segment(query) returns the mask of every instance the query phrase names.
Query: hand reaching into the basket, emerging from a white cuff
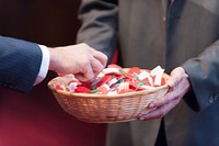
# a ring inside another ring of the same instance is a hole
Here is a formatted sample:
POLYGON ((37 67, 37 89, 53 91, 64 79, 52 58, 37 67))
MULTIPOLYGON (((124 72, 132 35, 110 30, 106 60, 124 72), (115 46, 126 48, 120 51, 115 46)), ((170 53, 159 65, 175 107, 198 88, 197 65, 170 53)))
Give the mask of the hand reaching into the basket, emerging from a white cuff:
POLYGON ((107 57, 87 44, 49 48, 49 70, 58 74, 73 74, 80 81, 97 76, 106 66, 107 57))

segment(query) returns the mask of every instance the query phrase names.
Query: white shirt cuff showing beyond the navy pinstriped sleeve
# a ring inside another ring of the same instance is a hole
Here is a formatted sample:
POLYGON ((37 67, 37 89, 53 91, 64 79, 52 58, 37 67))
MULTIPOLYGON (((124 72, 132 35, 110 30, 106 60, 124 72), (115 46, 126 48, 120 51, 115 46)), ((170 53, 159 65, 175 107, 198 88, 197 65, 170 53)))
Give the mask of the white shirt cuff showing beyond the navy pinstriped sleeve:
POLYGON ((38 76, 37 76, 35 82, 34 82, 34 86, 42 82, 46 78, 46 75, 48 72, 49 60, 50 60, 50 55, 49 55, 48 48, 44 45, 38 45, 38 46, 42 50, 43 57, 42 57, 41 69, 39 69, 39 72, 38 72, 38 76))

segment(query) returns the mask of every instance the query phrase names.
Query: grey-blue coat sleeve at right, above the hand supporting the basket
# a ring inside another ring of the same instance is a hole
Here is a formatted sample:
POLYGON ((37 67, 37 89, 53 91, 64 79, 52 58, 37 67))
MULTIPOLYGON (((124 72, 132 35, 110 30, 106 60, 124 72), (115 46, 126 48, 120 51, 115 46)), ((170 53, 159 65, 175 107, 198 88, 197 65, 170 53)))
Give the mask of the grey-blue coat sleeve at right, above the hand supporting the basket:
POLYGON ((219 100, 219 41, 182 67, 188 74, 193 87, 185 99, 193 109, 204 110, 219 100))

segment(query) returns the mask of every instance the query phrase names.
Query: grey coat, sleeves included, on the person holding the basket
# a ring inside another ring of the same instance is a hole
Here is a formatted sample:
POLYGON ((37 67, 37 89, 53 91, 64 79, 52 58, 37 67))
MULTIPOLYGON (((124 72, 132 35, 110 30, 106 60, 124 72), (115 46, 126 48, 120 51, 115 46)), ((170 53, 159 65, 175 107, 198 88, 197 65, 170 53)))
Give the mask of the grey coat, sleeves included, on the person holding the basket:
MULTIPOLYGON (((82 0, 78 42, 119 65, 168 74, 182 66, 188 92, 164 119, 169 146, 219 146, 219 0, 82 0)), ((107 146, 153 146, 160 120, 110 124, 107 146)))

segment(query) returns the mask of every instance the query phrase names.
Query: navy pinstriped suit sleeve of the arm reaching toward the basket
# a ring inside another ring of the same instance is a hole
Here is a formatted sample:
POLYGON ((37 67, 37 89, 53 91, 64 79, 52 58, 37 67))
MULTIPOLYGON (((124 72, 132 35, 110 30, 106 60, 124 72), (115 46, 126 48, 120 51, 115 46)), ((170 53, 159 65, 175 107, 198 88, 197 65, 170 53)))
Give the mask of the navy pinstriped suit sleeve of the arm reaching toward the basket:
POLYGON ((42 50, 37 44, 0 36, 0 85, 28 92, 38 75, 42 50))

